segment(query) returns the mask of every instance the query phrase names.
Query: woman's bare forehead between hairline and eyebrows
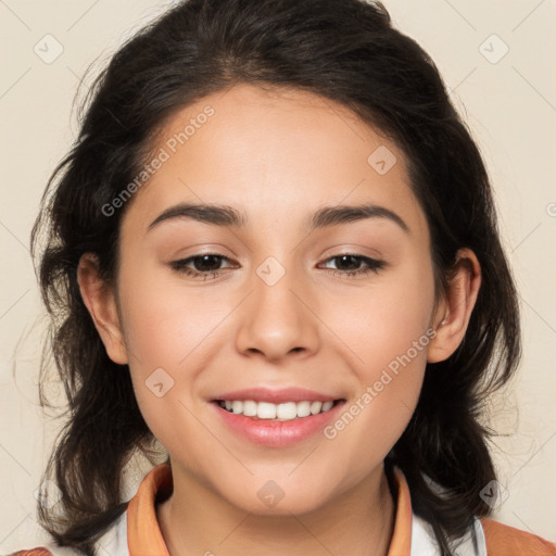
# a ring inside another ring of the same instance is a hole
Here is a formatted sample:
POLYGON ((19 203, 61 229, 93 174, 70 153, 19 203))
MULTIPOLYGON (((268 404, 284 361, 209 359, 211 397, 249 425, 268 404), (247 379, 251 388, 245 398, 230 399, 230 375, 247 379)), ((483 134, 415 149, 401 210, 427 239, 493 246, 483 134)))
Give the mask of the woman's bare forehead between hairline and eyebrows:
POLYGON ((178 202, 240 207, 248 224, 368 202, 403 213, 410 227, 425 222, 396 144, 306 91, 240 85, 207 96, 166 123, 151 157, 164 161, 130 211, 142 228, 178 202))

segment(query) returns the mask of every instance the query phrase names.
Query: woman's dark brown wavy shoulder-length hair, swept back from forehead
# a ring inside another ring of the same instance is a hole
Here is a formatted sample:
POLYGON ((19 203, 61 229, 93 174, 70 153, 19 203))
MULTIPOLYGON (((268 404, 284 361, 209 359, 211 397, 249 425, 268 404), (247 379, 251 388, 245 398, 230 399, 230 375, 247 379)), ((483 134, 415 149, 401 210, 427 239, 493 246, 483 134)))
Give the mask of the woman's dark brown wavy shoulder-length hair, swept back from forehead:
POLYGON ((61 545, 92 555, 126 509, 123 467, 153 441, 129 369, 108 357, 77 285, 86 252, 97 254, 108 282, 116 277, 127 206, 112 216, 102 207, 140 172, 173 114, 240 83, 323 96, 390 137, 408 161, 438 276, 447 275, 460 248, 480 262, 482 286, 465 340, 448 359, 427 366, 415 414, 387 458, 387 468, 404 471, 414 510, 432 525, 445 556, 473 516, 490 511, 479 493, 495 478, 492 431, 480 417, 519 358, 516 291, 485 167, 434 63, 393 28, 381 4, 363 0, 184 1, 128 40, 96 79, 31 236, 34 253, 45 238, 39 280, 68 400, 68 421, 45 472, 61 489, 62 514, 39 504, 41 522, 61 545))

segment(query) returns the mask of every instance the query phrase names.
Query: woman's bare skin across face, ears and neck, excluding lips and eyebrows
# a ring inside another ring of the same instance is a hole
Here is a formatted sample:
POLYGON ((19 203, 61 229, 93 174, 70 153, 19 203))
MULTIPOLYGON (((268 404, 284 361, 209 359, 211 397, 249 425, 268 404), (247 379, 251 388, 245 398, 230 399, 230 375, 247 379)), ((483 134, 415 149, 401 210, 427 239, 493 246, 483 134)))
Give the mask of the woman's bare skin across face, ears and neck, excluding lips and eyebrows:
POLYGON ((174 492, 157 506, 168 551, 386 555, 394 503, 383 459, 415 409, 427 361, 448 357, 464 338, 479 264, 462 250, 446 292, 434 291, 403 152, 317 96, 236 86, 177 113, 155 151, 207 104, 214 116, 129 201, 115 286, 101 282, 90 254, 78 271, 106 352, 129 365, 141 413, 172 458, 174 492), (381 146, 397 159, 384 175, 367 162, 381 146), (180 202, 230 205, 248 224, 174 218, 148 231, 180 202), (408 231, 384 217, 304 227, 321 206, 363 203, 394 212, 408 231), (345 252, 386 264, 346 276, 365 263, 332 258, 345 252), (214 279, 170 266, 205 253, 228 257, 214 279), (286 270, 274 286, 256 273, 269 256, 286 270), (218 392, 255 386, 307 388, 349 406, 428 329, 435 337, 332 440, 254 445, 210 406, 218 392), (144 382, 161 367, 175 383, 157 397, 144 382), (274 508, 257 496, 269 480, 285 493, 274 508))

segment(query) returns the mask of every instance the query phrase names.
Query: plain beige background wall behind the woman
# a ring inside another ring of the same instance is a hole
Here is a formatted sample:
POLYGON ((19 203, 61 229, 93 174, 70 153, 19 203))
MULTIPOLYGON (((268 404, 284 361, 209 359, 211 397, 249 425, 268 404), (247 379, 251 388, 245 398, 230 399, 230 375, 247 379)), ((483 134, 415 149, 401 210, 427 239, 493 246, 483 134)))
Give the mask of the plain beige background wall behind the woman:
MULTIPOLYGON (((170 3, 0 0, 0 554, 41 540, 34 492, 60 427, 37 405, 45 318, 28 237, 39 198, 75 137, 72 101, 87 66, 170 3), (63 48, 51 63, 34 51, 49 40, 55 53, 47 34, 63 48)), ((498 430, 511 433, 496 441, 508 496, 495 517, 556 541, 556 2, 384 4, 437 62, 486 159, 520 289, 525 356, 492 407, 498 430)))

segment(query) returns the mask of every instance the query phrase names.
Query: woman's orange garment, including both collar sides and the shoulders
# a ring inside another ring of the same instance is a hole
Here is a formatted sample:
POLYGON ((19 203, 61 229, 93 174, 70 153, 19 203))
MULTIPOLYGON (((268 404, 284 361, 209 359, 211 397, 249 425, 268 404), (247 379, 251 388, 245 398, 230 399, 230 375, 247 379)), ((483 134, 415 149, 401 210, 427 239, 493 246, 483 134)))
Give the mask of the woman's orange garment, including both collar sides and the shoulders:
MULTIPOLYGON (((394 531, 388 556, 413 556, 414 515, 409 488, 404 473, 394 468, 397 488, 394 531)), ((142 480, 127 507, 127 548, 129 556, 169 556, 156 520, 155 500, 172 491, 172 469, 161 464, 142 480)), ((556 544, 540 536, 502 525, 490 518, 480 520, 488 556, 556 556, 556 544)), ((10 556, 55 556, 55 547, 20 551, 10 556)), ((112 554, 112 556, 121 556, 112 554)), ((127 555, 126 555, 127 556, 127 555)))

